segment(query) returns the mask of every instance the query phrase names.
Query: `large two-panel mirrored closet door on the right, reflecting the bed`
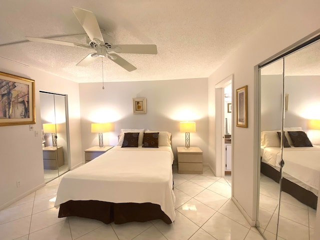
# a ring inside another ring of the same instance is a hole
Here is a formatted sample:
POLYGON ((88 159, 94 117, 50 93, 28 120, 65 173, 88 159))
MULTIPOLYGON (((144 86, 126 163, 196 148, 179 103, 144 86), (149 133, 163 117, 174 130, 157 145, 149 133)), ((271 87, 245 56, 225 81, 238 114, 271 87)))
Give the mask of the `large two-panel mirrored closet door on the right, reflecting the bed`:
POLYGON ((313 41, 259 69, 261 157, 256 225, 266 239, 316 239, 319 53, 320 42, 313 41))

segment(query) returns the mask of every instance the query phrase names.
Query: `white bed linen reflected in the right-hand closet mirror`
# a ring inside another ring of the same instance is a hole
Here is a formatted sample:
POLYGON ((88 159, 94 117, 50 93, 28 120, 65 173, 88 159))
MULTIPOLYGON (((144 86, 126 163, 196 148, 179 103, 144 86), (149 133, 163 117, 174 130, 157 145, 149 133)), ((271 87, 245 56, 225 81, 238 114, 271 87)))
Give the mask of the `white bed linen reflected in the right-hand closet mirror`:
MULTIPOLYGON (((320 146, 283 148, 283 176, 318 195, 320 177, 320 146)), ((279 170, 279 147, 265 147, 262 161, 279 170)))

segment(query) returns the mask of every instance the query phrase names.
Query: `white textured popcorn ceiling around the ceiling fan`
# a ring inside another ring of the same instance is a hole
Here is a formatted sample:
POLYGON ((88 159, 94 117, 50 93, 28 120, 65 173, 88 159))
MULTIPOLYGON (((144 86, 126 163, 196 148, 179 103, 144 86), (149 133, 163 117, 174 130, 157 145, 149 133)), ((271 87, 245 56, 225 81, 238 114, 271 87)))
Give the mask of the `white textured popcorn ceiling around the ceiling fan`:
POLYGON ((278 0, 7 0, 0 5, 0 57, 76 82, 99 82, 101 58, 76 66, 89 49, 25 41, 25 36, 86 43, 71 10, 92 11, 114 44, 156 44, 158 54, 119 55, 137 67, 127 72, 103 58, 104 81, 208 77, 278 0), (71 36, 72 35, 72 36, 71 36), (22 41, 22 42, 21 42, 22 41), (24 41, 24 42, 23 42, 24 41), (19 42, 10 44, 12 42, 19 42))

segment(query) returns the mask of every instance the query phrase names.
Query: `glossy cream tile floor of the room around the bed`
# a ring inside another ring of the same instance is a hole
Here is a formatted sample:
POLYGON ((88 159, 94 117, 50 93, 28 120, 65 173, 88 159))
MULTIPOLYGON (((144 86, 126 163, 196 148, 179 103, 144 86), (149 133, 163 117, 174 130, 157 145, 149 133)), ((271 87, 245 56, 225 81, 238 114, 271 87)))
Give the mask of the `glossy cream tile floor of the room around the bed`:
POLYGON ((152 220, 115 225, 80 217, 57 218, 53 204, 58 177, 0 211, 0 239, 263 239, 230 199, 230 176, 215 177, 208 167, 203 174, 178 174, 175 168, 173 172, 176 218, 172 224, 152 220))

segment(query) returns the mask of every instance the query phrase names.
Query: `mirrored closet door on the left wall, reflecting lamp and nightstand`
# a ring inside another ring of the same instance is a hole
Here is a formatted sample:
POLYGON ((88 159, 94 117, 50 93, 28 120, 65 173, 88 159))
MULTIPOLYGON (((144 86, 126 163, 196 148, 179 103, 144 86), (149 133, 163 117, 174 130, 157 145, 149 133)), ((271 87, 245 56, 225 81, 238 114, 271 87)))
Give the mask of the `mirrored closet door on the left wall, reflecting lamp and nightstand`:
POLYGON ((67 96, 40 91, 44 179, 69 170, 67 96))

